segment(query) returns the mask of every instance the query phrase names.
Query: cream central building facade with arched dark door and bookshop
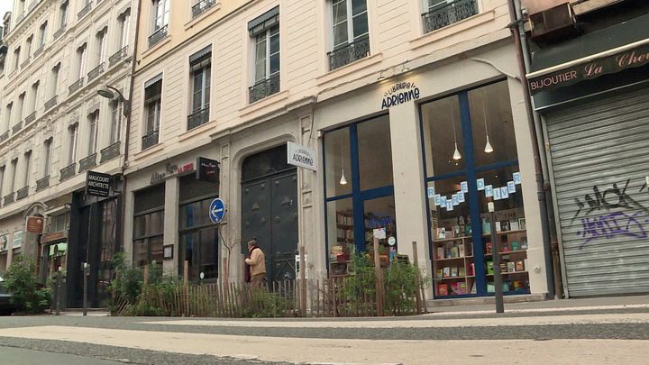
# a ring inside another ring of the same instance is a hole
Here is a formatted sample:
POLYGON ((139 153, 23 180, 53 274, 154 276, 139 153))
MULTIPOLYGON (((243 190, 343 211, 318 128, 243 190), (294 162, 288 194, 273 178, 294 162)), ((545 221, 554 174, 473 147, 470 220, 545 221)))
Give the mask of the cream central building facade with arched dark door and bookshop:
POLYGON ((143 0, 124 192, 124 251, 215 280, 245 242, 269 280, 417 257, 436 299, 548 292, 534 151, 505 0, 143 0), (317 169, 289 165, 288 142, 317 169), (218 182, 196 177, 219 162, 218 182), (220 226, 208 205, 226 202, 220 226), (496 210, 492 251, 488 203, 496 210), (232 249, 230 249, 232 248, 232 249), (339 257, 340 256, 340 257, 339 257))

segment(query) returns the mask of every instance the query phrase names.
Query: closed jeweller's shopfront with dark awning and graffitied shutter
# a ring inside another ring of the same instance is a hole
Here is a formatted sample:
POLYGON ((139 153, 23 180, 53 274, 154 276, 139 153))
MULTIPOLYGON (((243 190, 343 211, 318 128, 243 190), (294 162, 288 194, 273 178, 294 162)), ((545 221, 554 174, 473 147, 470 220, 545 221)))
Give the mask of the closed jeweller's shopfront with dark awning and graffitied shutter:
POLYGON ((529 33, 527 78, 555 192, 563 290, 570 297, 647 293, 649 7, 555 3, 530 7, 533 23, 542 16, 562 22, 554 32, 529 33))

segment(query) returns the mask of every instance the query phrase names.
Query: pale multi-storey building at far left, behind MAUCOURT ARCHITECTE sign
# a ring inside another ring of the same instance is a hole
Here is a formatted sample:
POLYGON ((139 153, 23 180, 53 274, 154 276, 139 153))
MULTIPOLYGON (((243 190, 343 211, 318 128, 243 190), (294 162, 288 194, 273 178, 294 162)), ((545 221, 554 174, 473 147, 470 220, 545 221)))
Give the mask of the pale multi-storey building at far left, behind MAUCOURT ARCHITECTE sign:
POLYGON ((0 269, 17 255, 36 260, 43 282, 61 270, 67 306, 81 306, 82 263, 92 306, 105 299, 119 250, 126 118, 134 26, 131 1, 18 0, 4 41, 0 111, 0 269), (86 172, 114 176, 106 198, 84 194, 86 172), (40 216, 42 234, 28 233, 40 216))

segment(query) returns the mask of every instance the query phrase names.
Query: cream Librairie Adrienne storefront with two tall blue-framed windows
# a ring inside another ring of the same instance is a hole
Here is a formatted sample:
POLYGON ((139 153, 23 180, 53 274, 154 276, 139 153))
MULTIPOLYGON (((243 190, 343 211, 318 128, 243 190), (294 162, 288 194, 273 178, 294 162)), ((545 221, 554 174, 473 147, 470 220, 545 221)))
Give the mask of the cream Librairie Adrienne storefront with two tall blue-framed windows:
MULTIPOLYGON (((508 46, 480 57, 516 69, 508 46)), ((520 81, 471 59, 408 73, 320 106, 327 269, 379 233, 379 255, 417 260, 435 299, 547 293, 534 155, 520 81), (462 69, 462 73, 455 72, 462 69), (448 77, 452 75, 452 78, 448 77), (341 121, 347 121, 341 123, 341 121), (336 125, 337 123, 337 125, 336 125), (500 252, 492 251, 488 203, 500 252)))

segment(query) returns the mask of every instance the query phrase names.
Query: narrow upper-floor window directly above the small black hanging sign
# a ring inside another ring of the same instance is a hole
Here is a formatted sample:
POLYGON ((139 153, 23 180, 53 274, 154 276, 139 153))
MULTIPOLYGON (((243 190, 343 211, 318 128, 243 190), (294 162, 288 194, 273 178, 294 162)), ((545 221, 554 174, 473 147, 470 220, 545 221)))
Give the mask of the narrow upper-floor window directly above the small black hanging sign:
POLYGON ((192 79, 191 113, 187 117, 187 130, 209 121, 210 84, 212 78, 212 46, 189 57, 192 79))

